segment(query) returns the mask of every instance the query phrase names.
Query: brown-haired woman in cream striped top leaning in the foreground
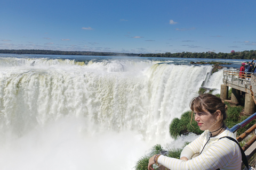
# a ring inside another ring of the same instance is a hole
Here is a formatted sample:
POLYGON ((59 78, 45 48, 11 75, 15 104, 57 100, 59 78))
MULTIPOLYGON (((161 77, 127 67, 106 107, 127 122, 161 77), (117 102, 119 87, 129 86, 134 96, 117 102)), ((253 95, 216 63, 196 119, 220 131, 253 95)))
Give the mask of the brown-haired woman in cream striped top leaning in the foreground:
POLYGON ((190 103, 195 121, 204 132, 181 152, 181 158, 175 159, 163 155, 154 155, 149 159, 148 170, 153 164, 175 169, 241 169, 241 150, 234 141, 234 134, 223 123, 227 118, 226 105, 211 94, 203 94, 190 103), (220 139, 221 137, 225 137, 220 139), (198 156, 192 158, 197 154, 198 156), (192 159, 191 159, 192 158, 192 159))

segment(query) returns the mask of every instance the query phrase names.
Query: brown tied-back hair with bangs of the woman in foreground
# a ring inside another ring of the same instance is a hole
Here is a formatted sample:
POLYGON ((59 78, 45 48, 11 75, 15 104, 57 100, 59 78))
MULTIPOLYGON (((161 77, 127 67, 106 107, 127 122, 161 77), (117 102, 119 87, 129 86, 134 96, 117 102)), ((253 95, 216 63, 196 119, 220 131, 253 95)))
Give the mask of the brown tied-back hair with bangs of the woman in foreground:
MULTIPOLYGON (((211 95, 211 94, 203 94, 193 98, 190 102, 190 109, 193 112, 202 113, 202 112, 210 112, 211 114, 215 114, 217 110, 221 112, 221 117, 215 124, 220 124, 225 121, 227 118, 226 109, 227 106, 224 104, 219 97, 211 95)), ((191 121, 192 121, 191 116, 191 121)))

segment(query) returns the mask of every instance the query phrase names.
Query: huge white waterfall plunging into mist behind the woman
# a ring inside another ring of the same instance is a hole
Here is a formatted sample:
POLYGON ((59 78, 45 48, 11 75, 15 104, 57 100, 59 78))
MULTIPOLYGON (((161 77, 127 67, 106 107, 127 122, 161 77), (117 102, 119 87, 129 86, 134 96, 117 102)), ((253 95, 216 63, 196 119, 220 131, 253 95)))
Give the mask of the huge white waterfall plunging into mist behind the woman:
POLYGON ((212 69, 25 57, 0 65, 1 169, 132 169, 149 147, 172 140, 170 122, 212 69))

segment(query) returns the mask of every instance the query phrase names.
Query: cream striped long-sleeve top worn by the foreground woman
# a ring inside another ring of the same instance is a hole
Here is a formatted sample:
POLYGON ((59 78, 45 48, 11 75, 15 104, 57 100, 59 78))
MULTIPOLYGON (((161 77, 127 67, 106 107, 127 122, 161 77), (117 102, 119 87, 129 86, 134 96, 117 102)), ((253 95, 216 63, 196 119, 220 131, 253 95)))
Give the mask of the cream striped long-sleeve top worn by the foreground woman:
POLYGON ((182 150, 180 157, 187 157, 189 159, 188 161, 161 155, 157 162, 171 170, 215 170, 218 168, 240 170, 242 155, 237 143, 228 138, 218 140, 226 136, 236 139, 233 132, 228 128, 217 137, 212 138, 210 138, 209 130, 206 130, 182 150), (201 151, 202 153, 199 156, 190 159, 192 155, 201 151))

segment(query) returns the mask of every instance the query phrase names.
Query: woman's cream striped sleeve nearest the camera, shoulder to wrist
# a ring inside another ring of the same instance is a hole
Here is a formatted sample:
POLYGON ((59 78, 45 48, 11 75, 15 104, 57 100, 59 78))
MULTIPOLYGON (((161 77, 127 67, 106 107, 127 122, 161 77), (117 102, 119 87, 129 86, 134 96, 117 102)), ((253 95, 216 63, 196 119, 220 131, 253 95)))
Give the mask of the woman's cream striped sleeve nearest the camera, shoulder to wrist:
POLYGON ((161 164, 172 170, 215 170, 221 167, 241 169, 241 154, 236 143, 230 140, 220 140, 204 150, 201 155, 188 161, 160 156, 157 159, 161 164))

